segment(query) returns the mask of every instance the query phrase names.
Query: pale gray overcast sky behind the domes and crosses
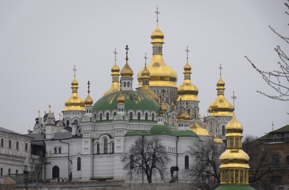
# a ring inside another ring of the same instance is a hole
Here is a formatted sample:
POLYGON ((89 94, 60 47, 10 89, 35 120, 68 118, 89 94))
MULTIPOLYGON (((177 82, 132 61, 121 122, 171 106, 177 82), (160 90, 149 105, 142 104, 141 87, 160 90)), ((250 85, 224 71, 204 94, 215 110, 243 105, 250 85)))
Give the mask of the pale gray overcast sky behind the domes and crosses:
MULTIPOLYGON (((233 103, 244 134, 262 136, 289 124, 288 101, 273 100, 256 92, 275 94, 251 64, 262 70, 278 69, 277 45, 289 47, 268 27, 288 35, 285 0, 261 1, 0 1, 0 63, 2 127, 27 133, 40 110, 58 116, 71 96, 73 65, 79 97, 87 96, 87 81, 94 103, 111 86, 114 48, 116 63, 128 63, 137 73, 144 54, 151 60, 151 33, 164 33, 163 58, 184 82, 186 46, 189 47, 191 81, 199 89, 200 113, 216 99, 216 82, 225 82, 225 98, 233 103)), ((288 11, 288 9, 287 9, 288 11)), ((288 84, 288 83, 287 83, 288 84)))

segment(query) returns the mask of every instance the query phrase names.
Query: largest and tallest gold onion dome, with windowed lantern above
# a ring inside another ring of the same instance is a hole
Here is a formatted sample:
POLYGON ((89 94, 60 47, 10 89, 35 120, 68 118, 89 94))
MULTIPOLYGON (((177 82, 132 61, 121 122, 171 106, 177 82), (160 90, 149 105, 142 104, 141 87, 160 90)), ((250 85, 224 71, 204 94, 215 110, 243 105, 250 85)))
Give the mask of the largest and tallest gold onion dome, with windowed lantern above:
MULTIPOLYGON (((168 86, 177 88, 176 82, 178 79, 175 70, 168 66, 162 57, 162 44, 164 44, 164 34, 160 31, 157 23, 155 31, 151 34, 151 44, 153 44, 153 57, 148 64, 147 69, 150 72, 150 86, 168 86)), ((141 72, 138 72, 138 86, 142 87, 141 72)))

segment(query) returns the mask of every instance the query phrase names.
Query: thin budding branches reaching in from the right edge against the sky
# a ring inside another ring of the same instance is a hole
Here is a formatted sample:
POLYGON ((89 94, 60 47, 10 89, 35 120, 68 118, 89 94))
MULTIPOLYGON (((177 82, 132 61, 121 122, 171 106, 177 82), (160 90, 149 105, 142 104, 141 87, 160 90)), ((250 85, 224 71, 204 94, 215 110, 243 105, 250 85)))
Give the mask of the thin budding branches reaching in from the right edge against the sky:
MULTIPOLYGON (((287 0, 289 2, 289 0, 287 0)), ((284 3, 286 7, 289 9, 288 3, 284 3)), ((289 16, 289 12, 285 12, 289 16)), ((289 25, 289 24, 288 24, 289 25)), ((275 31, 271 26, 269 26, 270 29, 281 39, 283 39, 288 45, 289 45, 289 38, 284 37, 283 35, 279 34, 275 31)), ((271 86, 275 91, 277 91, 278 95, 269 95, 264 92, 257 91, 267 97, 270 97, 272 99, 279 99, 283 101, 289 100, 289 57, 286 55, 286 53, 281 49, 280 46, 277 46, 275 48, 275 51, 277 52, 280 61, 278 61, 279 70, 273 70, 271 71, 263 71, 259 68, 257 68, 254 63, 249 60, 247 56, 247 60, 252 64, 252 66, 256 69, 257 72, 259 72, 262 75, 262 78, 267 82, 268 85, 271 86)))

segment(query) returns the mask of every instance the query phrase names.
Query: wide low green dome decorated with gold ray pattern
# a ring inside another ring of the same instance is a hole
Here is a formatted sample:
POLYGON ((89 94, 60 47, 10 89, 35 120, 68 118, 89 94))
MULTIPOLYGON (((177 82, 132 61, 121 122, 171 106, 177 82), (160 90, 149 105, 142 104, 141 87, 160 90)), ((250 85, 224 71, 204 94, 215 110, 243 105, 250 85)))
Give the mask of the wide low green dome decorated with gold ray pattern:
POLYGON ((138 91, 117 91, 107 94, 101 99, 99 99, 92 108, 92 113, 94 111, 99 112, 105 110, 117 110, 117 101, 116 98, 119 94, 122 94, 125 97, 125 110, 145 110, 157 112, 160 105, 148 95, 140 93, 138 91))

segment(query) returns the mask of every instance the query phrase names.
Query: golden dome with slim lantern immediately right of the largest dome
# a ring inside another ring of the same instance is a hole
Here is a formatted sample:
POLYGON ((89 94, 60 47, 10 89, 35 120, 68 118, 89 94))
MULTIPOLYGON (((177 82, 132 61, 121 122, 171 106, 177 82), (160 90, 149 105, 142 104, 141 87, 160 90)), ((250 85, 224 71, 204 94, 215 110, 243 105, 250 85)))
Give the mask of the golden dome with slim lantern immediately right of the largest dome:
POLYGON ((191 100, 191 101, 200 101, 198 98, 198 93, 199 93, 199 89, 197 88, 197 86, 195 86, 194 84, 192 84, 191 82, 191 78, 190 78, 190 74, 192 74, 191 72, 192 67, 189 65, 188 63, 188 58, 187 58, 187 63, 184 66, 184 83, 179 86, 178 88, 178 94, 179 97, 177 99, 177 101, 179 101, 180 99, 183 100, 191 100))

